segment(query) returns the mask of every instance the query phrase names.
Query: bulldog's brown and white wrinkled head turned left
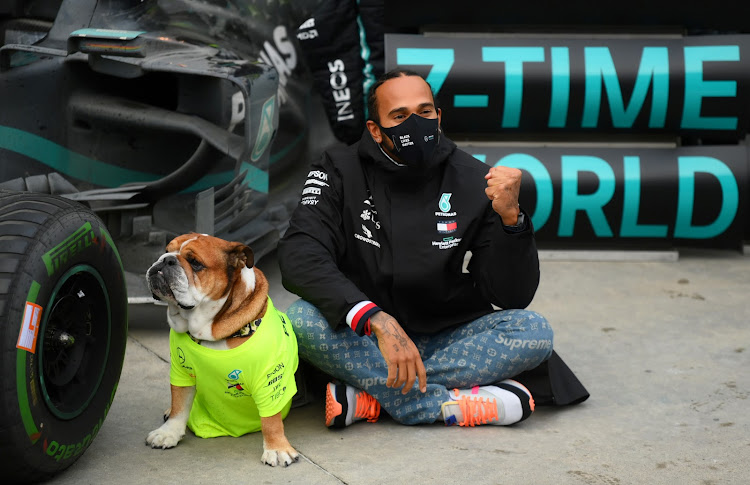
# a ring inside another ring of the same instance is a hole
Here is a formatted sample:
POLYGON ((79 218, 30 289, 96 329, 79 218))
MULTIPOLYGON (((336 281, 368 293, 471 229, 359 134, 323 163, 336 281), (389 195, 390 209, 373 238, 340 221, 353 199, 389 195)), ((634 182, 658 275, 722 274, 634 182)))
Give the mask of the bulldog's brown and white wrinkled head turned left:
POLYGON ((210 328, 198 326, 210 327, 238 280, 252 293, 253 264, 252 250, 242 243, 184 234, 167 245, 146 280, 154 298, 169 305, 168 320, 175 331, 190 330, 196 338, 212 340, 210 328))

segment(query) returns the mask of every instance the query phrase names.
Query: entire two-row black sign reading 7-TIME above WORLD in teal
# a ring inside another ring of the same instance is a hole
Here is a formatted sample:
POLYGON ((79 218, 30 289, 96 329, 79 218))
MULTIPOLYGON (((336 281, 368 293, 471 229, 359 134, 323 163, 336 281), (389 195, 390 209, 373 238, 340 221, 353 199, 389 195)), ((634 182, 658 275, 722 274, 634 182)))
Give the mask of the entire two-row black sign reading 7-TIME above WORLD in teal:
POLYGON ((750 239, 750 36, 387 35, 396 66, 430 82, 461 148, 524 171, 540 246, 750 239))

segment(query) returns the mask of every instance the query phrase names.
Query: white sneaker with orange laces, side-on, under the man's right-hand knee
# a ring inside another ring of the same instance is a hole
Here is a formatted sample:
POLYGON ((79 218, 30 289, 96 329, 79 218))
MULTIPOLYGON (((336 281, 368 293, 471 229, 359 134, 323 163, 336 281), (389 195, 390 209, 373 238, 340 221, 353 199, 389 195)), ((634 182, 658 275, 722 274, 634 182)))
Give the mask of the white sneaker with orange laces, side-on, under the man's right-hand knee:
POLYGON ((506 426, 531 416, 534 398, 520 382, 505 379, 494 386, 454 389, 441 411, 446 426, 506 426))

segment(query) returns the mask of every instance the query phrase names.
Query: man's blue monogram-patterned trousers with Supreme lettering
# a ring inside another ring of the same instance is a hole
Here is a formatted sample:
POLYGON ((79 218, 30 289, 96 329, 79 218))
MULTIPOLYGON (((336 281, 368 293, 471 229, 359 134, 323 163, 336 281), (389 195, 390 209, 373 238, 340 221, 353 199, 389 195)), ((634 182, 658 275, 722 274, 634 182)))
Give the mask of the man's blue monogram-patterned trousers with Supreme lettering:
POLYGON ((427 371, 427 392, 418 384, 406 395, 385 382, 388 368, 377 339, 350 328, 334 330, 320 311, 304 300, 286 311, 297 336, 300 357, 326 374, 372 395, 402 424, 433 423, 449 392, 488 385, 533 369, 552 354, 547 320, 529 310, 498 310, 433 335, 407 332, 427 371))

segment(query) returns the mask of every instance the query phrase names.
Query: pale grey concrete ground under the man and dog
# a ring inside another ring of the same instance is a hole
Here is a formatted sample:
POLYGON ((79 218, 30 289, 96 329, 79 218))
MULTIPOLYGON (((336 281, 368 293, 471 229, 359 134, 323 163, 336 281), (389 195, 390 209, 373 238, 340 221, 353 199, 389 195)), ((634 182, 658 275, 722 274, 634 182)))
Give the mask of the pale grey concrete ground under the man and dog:
MULTIPOLYGON (((99 435, 56 484, 750 483, 750 256, 681 251, 677 261, 542 261, 531 309, 591 393, 512 427, 323 424, 321 399, 285 421, 301 453, 261 464, 260 433, 145 445, 169 405, 164 307, 131 305, 120 386, 99 435)), ((271 296, 274 255, 259 263, 271 296)))

